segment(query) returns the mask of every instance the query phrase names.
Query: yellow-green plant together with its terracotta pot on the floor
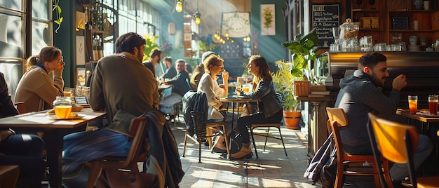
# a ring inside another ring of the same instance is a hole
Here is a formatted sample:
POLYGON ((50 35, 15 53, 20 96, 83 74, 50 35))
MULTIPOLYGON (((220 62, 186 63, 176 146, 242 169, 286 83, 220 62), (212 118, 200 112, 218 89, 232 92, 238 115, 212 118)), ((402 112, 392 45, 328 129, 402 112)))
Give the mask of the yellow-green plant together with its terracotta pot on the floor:
POLYGON ((282 95, 283 121, 286 128, 299 129, 300 111, 297 108, 300 101, 295 99, 295 81, 303 81, 302 67, 296 67, 292 62, 278 60, 275 62, 278 71, 272 74, 276 93, 282 95))

